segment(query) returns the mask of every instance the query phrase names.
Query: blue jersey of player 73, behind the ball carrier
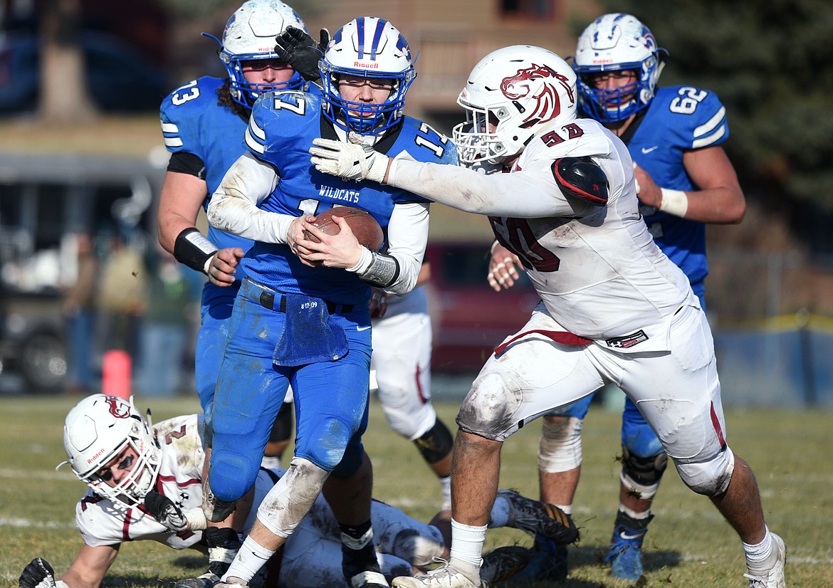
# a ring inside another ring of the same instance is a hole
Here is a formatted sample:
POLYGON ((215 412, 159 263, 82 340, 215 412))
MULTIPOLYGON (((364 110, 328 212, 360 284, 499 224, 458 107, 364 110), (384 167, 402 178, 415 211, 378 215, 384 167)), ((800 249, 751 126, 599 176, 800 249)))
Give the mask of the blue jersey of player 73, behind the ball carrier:
MULTIPOLYGON (((228 168, 246 151, 242 145, 246 119, 217 104, 217 90, 223 82, 219 77, 200 77, 177 87, 159 107, 167 150, 192 153, 205 164, 208 196, 203 208, 208 207, 228 168)), ((214 227, 208 227, 208 239, 220 249, 240 247, 245 252, 252 247, 249 239, 214 227)))

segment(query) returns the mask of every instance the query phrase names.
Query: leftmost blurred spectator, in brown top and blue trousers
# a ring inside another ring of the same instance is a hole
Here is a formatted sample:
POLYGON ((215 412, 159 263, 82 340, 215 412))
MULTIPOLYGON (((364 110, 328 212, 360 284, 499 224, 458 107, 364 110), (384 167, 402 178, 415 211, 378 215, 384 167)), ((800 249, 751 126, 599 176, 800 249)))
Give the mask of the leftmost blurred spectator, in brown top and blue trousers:
POLYGON ((75 284, 64 292, 62 311, 69 334, 67 391, 89 393, 96 389, 92 375, 92 337, 95 326, 98 258, 92 237, 76 237, 77 272, 75 284))

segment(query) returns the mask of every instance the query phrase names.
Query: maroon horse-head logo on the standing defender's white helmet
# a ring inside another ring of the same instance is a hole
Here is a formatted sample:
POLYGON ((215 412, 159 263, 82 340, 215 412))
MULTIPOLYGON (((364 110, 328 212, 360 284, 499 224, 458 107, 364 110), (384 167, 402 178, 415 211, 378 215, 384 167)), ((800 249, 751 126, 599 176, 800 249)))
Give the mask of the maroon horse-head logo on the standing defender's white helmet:
POLYGON ((567 77, 546 65, 533 63, 531 67, 519 69, 514 76, 503 78, 501 92, 504 96, 510 100, 518 100, 532 95, 536 100, 535 108, 518 125, 519 127, 526 128, 532 124, 548 122, 561 114, 561 101, 555 86, 556 82, 564 88, 570 103, 575 104, 576 98, 573 96, 567 77))

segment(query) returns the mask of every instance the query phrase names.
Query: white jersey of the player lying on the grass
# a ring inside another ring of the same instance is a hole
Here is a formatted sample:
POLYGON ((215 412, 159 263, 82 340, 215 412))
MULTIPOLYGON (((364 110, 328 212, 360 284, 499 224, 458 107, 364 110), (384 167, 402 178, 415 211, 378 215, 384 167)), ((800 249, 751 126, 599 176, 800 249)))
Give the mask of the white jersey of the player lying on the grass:
MULTIPOLYGON (((162 463, 155 489, 187 511, 202 505, 202 463, 205 461, 200 428, 202 415, 176 416, 153 426, 162 463)), ((112 546, 122 541, 150 539, 174 549, 192 547, 202 531, 168 531, 143 506, 127 507, 88 489, 75 507, 75 524, 88 546, 112 546)))

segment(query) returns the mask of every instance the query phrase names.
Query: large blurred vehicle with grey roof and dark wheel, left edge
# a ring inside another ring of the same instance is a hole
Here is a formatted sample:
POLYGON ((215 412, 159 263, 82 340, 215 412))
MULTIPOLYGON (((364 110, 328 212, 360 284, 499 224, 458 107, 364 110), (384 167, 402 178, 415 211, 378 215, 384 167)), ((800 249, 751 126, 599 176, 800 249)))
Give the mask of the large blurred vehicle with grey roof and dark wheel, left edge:
POLYGON ((66 388, 72 236, 107 227, 151 235, 164 173, 143 157, 0 150, 0 393, 66 388))

